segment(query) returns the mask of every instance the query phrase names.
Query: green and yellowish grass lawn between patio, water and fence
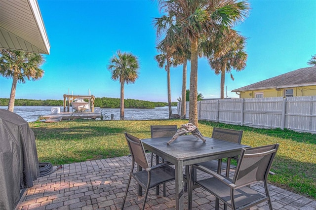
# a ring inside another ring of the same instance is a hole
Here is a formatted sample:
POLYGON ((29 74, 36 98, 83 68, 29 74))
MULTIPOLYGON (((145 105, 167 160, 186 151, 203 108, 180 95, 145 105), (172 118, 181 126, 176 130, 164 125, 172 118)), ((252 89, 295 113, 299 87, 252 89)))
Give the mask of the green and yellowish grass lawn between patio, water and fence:
MULTIPOLYGON (((29 123, 35 133, 39 162, 53 165, 118 157, 129 154, 124 138, 128 132, 150 138, 150 125, 177 125, 187 120, 98 121, 29 123)), ((213 127, 243 130, 241 143, 250 146, 279 143, 269 182, 316 200, 316 135, 280 129, 255 129, 199 121, 198 129, 210 137, 213 127)))

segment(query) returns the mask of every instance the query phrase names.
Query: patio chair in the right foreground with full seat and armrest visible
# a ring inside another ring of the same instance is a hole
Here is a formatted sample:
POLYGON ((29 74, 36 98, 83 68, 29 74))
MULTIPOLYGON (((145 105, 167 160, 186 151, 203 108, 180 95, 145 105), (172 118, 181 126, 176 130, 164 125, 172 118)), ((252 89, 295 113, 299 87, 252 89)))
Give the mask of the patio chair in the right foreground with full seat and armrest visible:
POLYGON ((229 206, 233 210, 246 210, 268 201, 269 209, 272 210, 267 178, 278 146, 279 144, 272 144, 242 149, 233 179, 219 175, 203 166, 192 165, 192 168, 213 177, 198 181, 193 181, 193 176, 190 177, 188 208, 192 208, 192 186, 196 184, 216 197, 216 210, 219 208, 219 200, 224 202, 224 209, 229 206), (263 181, 265 194, 249 187, 250 184, 257 181, 263 181))

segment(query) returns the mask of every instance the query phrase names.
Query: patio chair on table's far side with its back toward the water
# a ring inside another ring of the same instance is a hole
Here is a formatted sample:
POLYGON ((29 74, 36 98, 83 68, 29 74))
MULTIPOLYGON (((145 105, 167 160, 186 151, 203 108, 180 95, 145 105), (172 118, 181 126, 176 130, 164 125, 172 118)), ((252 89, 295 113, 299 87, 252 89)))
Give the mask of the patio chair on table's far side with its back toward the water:
MULTIPOLYGON (((172 138, 172 136, 177 132, 177 125, 151 125, 150 131, 151 131, 152 138, 160 138, 160 137, 172 138)), ((152 157, 151 157, 151 166, 153 166, 153 157, 154 157, 154 153, 152 153, 152 157)), ((161 160, 161 162, 163 163, 164 160, 161 160)), ((159 158, 157 155, 156 155, 156 163, 157 164, 159 163, 159 158)), ((159 186, 157 186, 156 194, 159 195, 159 186)), ((163 197, 165 196, 166 196, 166 184, 163 184, 163 197)))

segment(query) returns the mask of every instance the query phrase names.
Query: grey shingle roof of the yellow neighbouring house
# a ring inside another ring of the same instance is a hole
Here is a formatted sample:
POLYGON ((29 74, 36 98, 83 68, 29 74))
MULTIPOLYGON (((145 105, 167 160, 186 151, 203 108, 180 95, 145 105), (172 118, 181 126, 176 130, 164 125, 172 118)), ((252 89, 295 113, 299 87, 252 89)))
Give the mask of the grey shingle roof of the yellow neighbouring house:
POLYGON ((316 66, 293 70, 270 79, 237 88, 232 90, 232 92, 270 88, 299 87, 306 85, 316 85, 316 66))

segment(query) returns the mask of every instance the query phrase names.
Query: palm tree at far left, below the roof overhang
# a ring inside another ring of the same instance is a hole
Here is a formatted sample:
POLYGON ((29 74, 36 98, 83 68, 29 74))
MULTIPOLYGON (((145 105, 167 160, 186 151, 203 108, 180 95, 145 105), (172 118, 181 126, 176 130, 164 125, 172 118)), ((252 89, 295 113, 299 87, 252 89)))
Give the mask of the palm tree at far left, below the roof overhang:
POLYGON ((17 82, 25 83, 26 80, 38 80, 44 75, 40 66, 44 58, 38 53, 0 50, 0 75, 13 78, 8 110, 13 112, 17 82))

